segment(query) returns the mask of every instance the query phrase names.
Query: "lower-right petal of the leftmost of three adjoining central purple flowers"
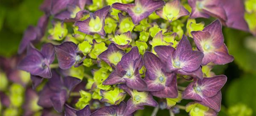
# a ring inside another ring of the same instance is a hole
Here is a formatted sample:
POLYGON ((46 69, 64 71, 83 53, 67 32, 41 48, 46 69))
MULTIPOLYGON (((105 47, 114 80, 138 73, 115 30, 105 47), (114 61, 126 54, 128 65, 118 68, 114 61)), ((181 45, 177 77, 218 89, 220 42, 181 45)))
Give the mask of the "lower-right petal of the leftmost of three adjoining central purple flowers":
POLYGON ((128 87, 134 90, 146 90, 147 84, 140 77, 138 69, 134 72, 134 76, 131 78, 124 78, 128 87))

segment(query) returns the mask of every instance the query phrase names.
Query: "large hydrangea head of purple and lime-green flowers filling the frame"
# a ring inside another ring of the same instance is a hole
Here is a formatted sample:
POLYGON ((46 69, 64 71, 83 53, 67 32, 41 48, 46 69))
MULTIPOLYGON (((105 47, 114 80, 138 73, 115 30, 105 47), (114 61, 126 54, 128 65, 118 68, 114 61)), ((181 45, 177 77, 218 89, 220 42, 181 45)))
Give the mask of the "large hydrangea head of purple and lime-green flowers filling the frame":
POLYGON ((26 116, 133 116, 145 105, 217 116, 227 77, 211 70, 234 59, 222 25, 256 30, 243 5, 232 10, 230 2, 45 0, 45 14, 25 31, 15 63, 29 72, 40 107, 26 116), (196 22, 210 17, 217 19, 207 26, 196 22), (190 103, 181 106, 182 99, 190 103))

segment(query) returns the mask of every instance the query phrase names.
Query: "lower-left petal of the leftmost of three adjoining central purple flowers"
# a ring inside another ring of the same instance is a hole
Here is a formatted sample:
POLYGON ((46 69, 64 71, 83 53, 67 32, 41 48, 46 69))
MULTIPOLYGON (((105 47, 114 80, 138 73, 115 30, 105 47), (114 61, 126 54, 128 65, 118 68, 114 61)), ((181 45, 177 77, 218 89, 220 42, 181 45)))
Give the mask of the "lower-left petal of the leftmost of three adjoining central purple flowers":
POLYGON ((116 70, 111 72, 109 77, 105 79, 105 81, 102 83, 103 85, 113 85, 113 84, 120 84, 120 83, 125 83, 125 79, 118 76, 116 70))

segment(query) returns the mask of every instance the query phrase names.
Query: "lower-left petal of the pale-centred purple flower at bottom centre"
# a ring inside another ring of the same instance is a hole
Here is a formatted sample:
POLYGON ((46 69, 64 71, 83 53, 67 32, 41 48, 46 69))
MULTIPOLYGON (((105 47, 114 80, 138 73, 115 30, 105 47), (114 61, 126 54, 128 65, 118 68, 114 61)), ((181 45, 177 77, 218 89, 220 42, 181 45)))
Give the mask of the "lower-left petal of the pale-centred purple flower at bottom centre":
POLYGON ((133 112, 135 112, 136 110, 143 110, 144 106, 140 106, 140 105, 136 105, 132 102, 132 99, 130 98, 127 101, 127 107, 125 109, 125 114, 126 115, 131 115, 133 112))

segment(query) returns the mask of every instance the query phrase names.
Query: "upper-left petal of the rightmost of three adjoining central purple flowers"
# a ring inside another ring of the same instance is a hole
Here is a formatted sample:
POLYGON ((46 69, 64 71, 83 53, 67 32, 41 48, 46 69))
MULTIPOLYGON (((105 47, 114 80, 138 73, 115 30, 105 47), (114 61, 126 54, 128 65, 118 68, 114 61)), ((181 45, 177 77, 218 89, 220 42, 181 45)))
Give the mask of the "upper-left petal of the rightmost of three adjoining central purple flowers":
POLYGON ((171 46, 159 45, 154 47, 155 52, 163 63, 167 62, 169 56, 173 55, 175 49, 171 46))

